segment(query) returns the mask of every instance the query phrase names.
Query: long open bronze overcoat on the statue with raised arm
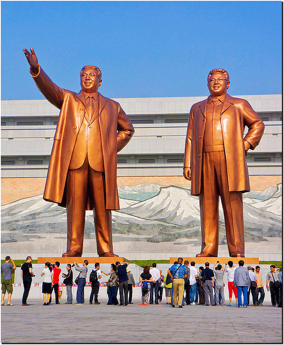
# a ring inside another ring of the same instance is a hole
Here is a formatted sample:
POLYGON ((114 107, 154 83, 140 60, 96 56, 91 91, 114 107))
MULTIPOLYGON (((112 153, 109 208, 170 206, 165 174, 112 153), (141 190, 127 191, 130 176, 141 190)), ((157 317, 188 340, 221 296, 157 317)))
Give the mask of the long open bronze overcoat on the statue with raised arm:
MULTIPOLYGON (((45 98, 60 109, 43 199, 66 207, 65 181, 86 111, 85 99, 82 91, 75 93, 59 88, 43 69, 40 69, 33 78, 45 98)), ((116 156, 133 136, 134 128, 120 104, 101 94, 99 94, 99 127, 106 181, 106 209, 119 209, 116 156)), ((86 209, 92 209, 89 201, 86 209)))

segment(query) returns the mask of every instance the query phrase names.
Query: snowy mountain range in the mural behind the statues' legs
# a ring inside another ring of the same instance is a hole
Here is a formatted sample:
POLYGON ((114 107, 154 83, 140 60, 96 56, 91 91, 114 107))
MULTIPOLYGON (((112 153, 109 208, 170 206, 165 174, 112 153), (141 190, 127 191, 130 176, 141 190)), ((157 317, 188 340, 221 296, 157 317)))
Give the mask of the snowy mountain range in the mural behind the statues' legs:
MULTIPOLYGON (((195 245, 200 245, 199 200, 190 195, 190 188, 139 184, 119 187, 119 196, 120 210, 112 212, 114 242, 193 241, 195 245)), ((247 242, 281 237, 282 184, 246 193, 243 201, 247 242)), ((66 210, 44 201, 42 195, 1 207, 2 243, 34 242, 47 238, 49 234, 66 238, 66 210)), ((85 239, 94 238, 93 214, 87 211, 85 239)), ((221 244, 226 243, 221 205, 219 240, 221 244)))

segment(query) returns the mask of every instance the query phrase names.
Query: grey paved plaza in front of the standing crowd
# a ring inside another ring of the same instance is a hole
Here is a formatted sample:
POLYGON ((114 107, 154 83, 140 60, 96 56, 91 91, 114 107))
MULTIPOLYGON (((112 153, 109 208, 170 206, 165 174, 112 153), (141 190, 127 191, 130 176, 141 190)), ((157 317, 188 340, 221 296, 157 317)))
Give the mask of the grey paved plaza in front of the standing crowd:
MULTIPOLYGON (((2 343, 282 343, 282 308, 42 305, 1 307, 2 343)), ((88 300, 86 300, 88 302, 88 300)))

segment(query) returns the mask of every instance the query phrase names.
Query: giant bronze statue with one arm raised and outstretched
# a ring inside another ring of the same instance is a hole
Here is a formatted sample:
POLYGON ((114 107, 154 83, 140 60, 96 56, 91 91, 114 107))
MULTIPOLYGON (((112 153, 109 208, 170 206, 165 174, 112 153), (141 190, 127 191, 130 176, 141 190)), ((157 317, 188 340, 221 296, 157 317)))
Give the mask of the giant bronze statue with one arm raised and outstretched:
POLYGON ((24 49, 36 86, 60 109, 43 198, 66 207, 67 250, 62 256, 82 256, 85 210, 94 213, 98 255, 117 256, 111 212, 119 209, 116 156, 134 128, 120 104, 98 92, 99 68, 83 67, 82 90, 76 93, 52 82, 30 51, 24 49))

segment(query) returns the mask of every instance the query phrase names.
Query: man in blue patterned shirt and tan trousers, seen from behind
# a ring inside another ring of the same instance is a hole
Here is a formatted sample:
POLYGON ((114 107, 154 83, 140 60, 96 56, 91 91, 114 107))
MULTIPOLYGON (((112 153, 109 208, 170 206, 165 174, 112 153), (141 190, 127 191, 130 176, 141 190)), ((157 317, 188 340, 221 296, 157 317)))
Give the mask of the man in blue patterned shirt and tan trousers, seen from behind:
POLYGON ((187 276, 187 270, 184 266, 182 266, 183 258, 177 259, 177 264, 173 264, 169 270, 168 275, 172 279, 172 307, 174 308, 176 305, 176 299, 178 295, 178 308, 182 308, 182 298, 184 292, 184 278, 187 276))

